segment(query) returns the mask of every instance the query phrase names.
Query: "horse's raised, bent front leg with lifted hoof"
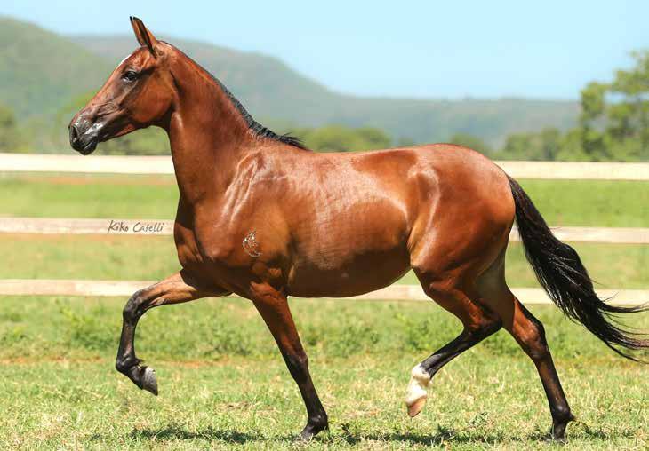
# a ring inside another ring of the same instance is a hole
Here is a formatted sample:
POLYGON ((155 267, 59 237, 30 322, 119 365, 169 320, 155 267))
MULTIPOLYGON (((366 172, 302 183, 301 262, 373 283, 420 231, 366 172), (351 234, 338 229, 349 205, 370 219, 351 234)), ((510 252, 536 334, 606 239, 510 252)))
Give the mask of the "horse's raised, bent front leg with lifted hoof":
POLYGON ((133 384, 140 389, 157 395, 156 371, 140 365, 141 360, 135 356, 135 328, 141 316, 149 309, 160 305, 180 304, 206 296, 220 296, 214 290, 199 288, 188 274, 182 270, 179 273, 159 281, 146 289, 140 289, 124 305, 122 313, 122 336, 115 367, 117 371, 128 376, 133 384))

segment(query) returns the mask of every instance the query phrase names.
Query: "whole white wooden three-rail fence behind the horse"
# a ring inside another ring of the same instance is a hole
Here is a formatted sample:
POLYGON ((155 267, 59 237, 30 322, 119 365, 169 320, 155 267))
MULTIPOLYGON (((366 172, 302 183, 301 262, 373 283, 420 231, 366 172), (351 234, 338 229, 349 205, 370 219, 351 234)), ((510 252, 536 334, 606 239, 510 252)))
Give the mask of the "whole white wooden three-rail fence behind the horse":
MULTIPOLYGON (((649 163, 618 162, 497 162, 513 178, 649 181, 649 163)), ((173 174, 169 156, 91 156, 2 154, 0 172, 81 172, 173 174)), ((0 212, 1 214, 2 212, 0 212)), ((155 219, 0 218, 0 233, 172 234, 173 222, 155 219)), ((649 244, 649 228, 555 227, 563 241, 649 244)), ((510 241, 519 241, 513 230, 510 241)), ((4 296, 130 296, 153 281, 0 280, 4 296)), ((548 304, 542 289, 512 289, 525 304, 548 304)), ((601 297, 618 305, 649 303, 649 289, 603 289, 601 297)), ((424 301, 421 287, 392 285, 349 299, 424 301)))

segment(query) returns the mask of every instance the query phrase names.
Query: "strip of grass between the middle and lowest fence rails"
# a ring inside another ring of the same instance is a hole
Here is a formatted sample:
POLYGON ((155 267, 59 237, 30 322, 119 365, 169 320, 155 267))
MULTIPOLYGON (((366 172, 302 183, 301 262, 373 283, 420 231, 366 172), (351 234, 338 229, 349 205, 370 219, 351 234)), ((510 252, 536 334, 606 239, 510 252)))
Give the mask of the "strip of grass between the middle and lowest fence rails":
MULTIPOLYGON (((603 288, 649 287, 649 246, 573 243, 603 288)), ((0 235, 4 279, 159 280, 180 265, 171 236, 0 235)), ((509 245, 507 278, 512 287, 536 286, 519 243, 509 245)), ((413 273, 400 283, 417 284, 413 273)))

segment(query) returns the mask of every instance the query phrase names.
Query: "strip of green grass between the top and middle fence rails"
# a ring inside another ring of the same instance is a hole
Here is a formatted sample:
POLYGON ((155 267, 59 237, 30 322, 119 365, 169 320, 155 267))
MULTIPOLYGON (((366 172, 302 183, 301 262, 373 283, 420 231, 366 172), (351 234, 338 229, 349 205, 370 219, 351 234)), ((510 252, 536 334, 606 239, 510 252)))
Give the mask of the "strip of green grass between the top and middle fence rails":
MULTIPOLYGON (((523 180, 553 226, 649 227, 649 183, 523 180)), ((0 214, 39 218, 173 218, 172 176, 0 176, 0 214)))

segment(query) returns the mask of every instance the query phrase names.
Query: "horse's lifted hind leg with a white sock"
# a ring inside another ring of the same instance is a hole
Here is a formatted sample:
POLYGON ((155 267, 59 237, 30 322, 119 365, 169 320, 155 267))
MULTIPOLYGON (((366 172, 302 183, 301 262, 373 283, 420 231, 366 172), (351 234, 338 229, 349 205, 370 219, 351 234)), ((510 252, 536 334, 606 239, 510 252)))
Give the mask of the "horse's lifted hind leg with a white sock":
POLYGON ((501 328, 501 319, 498 315, 474 302, 469 297, 469 290, 463 289, 453 276, 431 280, 424 273, 417 271, 415 273, 426 294, 461 320, 463 329, 452 342, 445 344, 413 368, 405 395, 405 405, 411 417, 418 415, 425 406, 430 382, 437 371, 461 352, 465 352, 501 328))

